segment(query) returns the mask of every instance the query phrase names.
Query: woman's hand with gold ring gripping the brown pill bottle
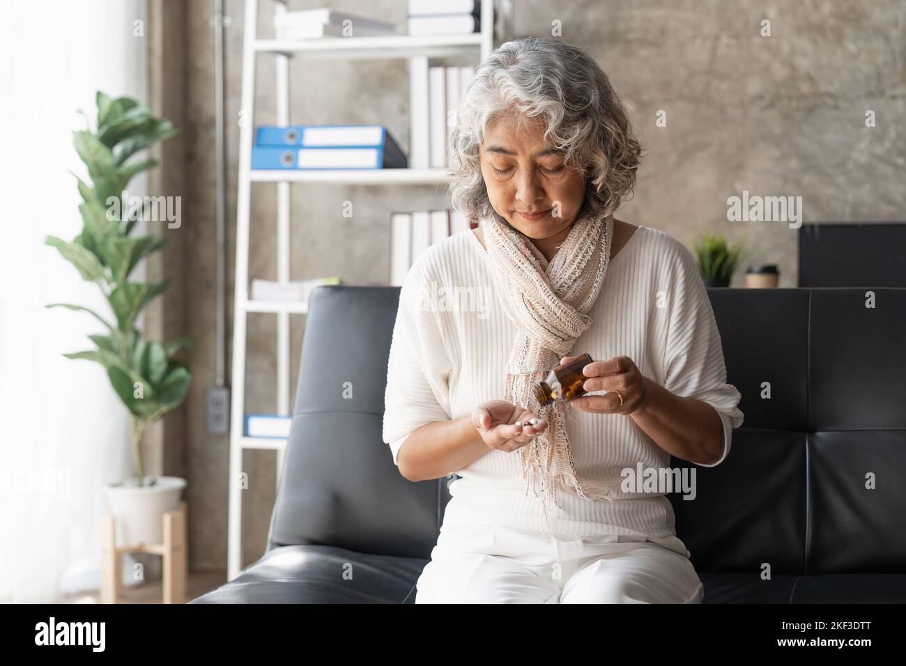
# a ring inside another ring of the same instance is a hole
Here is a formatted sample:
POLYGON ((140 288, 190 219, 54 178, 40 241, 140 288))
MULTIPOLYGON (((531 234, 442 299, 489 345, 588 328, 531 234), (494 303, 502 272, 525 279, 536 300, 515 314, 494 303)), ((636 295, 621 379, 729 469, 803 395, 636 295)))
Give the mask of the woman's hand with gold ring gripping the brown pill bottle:
MULTIPOLYGON (((568 363, 578 356, 565 356, 561 363, 568 363)), ((606 361, 593 361, 582 369, 587 377, 585 391, 607 391, 604 395, 585 395, 570 401, 576 409, 595 414, 628 415, 644 408, 648 398, 645 378, 629 356, 614 356, 606 361), (613 391, 620 391, 623 397, 613 391)))

